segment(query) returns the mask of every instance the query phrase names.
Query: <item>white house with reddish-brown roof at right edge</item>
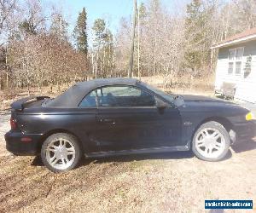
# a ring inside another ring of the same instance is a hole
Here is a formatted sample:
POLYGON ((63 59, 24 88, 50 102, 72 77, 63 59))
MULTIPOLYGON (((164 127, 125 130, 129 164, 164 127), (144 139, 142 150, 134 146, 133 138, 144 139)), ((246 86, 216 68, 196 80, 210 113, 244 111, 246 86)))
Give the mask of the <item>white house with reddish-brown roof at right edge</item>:
POLYGON ((218 49, 215 91, 224 94, 231 87, 235 99, 256 103, 256 28, 229 37, 212 49, 218 49))

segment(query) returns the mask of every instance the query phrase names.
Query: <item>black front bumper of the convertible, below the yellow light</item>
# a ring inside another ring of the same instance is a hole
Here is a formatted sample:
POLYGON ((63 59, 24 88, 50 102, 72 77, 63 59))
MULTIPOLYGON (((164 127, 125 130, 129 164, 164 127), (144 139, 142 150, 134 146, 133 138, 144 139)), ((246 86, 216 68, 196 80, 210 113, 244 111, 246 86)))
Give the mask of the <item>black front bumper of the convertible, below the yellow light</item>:
POLYGON ((236 141, 234 143, 251 141, 256 137, 256 120, 236 123, 234 125, 236 141))

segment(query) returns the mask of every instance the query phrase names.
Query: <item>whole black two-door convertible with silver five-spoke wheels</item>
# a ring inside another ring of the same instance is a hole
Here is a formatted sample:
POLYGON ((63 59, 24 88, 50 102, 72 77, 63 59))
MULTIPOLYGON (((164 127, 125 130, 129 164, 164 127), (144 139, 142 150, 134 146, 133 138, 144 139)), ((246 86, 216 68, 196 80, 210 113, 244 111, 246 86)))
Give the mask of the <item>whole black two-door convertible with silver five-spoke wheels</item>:
POLYGON ((230 145, 255 134, 252 113, 203 96, 172 95, 132 78, 78 83, 55 99, 33 96, 12 105, 6 147, 38 155, 49 170, 79 159, 130 153, 192 151, 218 161, 230 145))

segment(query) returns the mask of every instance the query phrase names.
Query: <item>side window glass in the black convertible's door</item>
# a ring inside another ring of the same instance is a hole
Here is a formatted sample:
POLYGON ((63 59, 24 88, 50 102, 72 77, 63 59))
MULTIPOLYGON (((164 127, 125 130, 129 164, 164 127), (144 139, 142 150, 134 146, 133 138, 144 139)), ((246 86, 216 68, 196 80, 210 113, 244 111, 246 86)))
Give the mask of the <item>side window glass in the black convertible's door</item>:
POLYGON ((131 86, 107 86, 97 93, 99 107, 154 107, 154 95, 131 86))

